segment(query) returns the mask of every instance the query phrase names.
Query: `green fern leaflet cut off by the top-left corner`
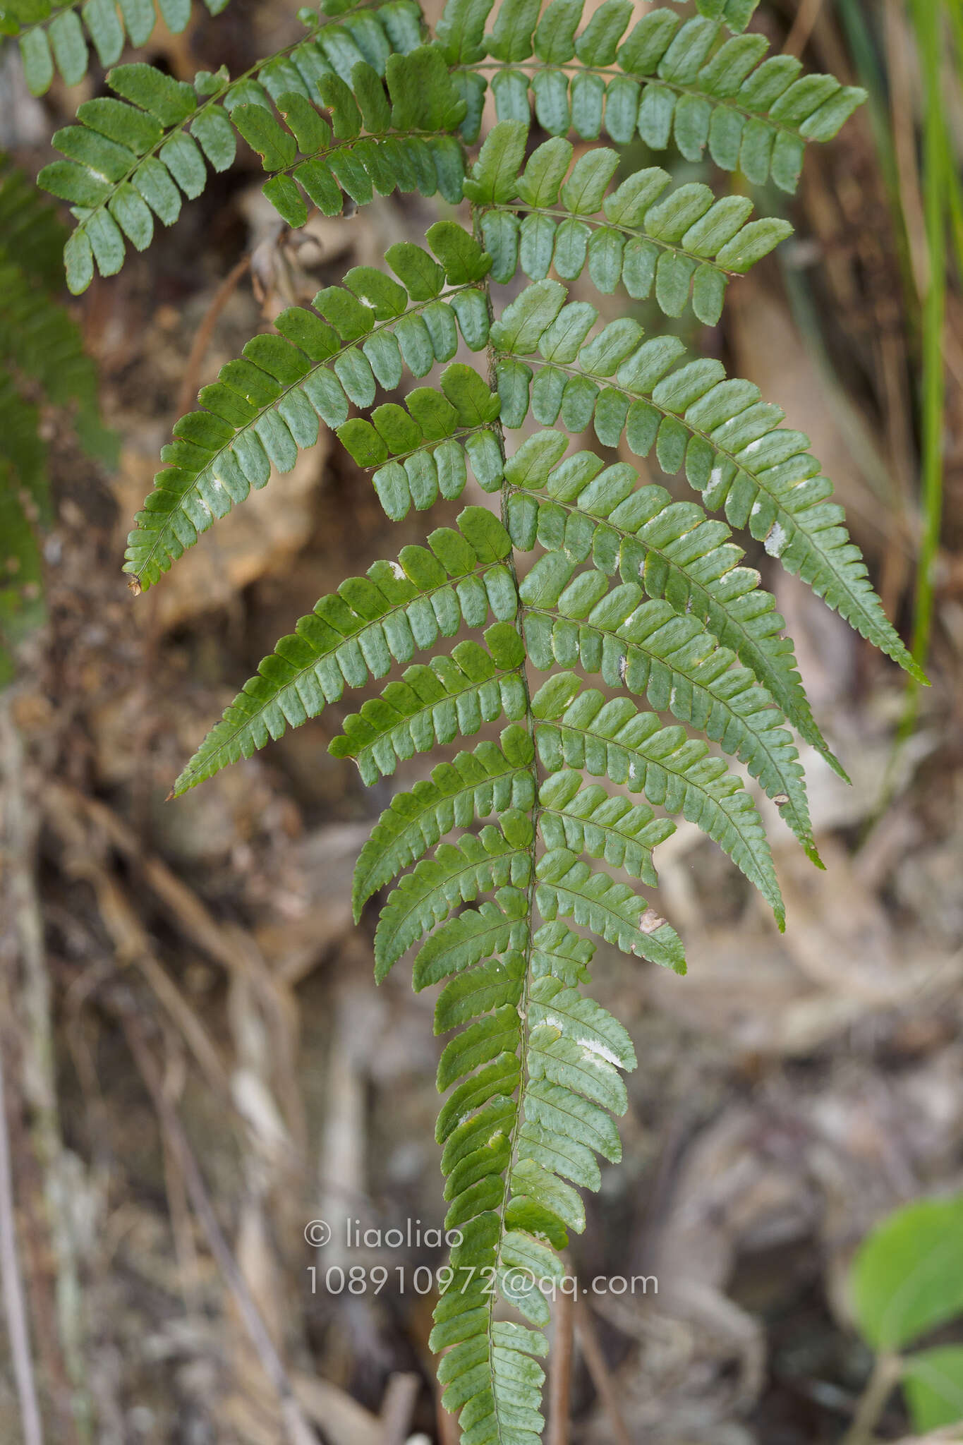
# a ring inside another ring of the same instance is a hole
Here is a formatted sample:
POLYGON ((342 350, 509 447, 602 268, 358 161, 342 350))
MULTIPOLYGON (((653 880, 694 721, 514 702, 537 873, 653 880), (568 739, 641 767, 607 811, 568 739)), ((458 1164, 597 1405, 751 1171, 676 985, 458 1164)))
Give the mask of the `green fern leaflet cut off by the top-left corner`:
MULTIPOLYGON (((211 14, 221 14, 228 0, 204 4, 211 14)), ((78 85, 91 64, 90 46, 101 65, 114 65, 124 45, 146 45, 159 22, 172 35, 182 35, 191 9, 191 0, 120 0, 120 6, 111 0, 84 0, 82 6, 81 0, 3 0, 0 35, 17 36, 27 90, 43 95, 55 64, 65 85, 78 85)))

